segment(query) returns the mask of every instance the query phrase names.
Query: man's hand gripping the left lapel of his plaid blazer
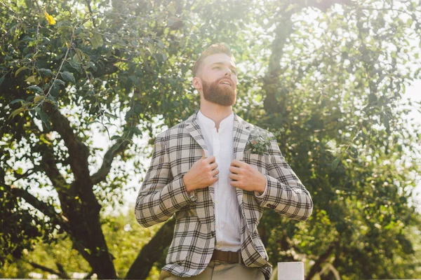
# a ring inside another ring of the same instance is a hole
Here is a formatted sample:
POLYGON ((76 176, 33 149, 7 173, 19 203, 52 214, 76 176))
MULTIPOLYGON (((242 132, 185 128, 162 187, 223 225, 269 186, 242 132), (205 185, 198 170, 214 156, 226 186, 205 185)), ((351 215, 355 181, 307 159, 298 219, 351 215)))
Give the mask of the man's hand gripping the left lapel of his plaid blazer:
POLYGON ((192 168, 182 177, 187 193, 199 188, 206 188, 218 181, 218 177, 215 177, 219 174, 215 157, 205 158, 205 152, 203 150, 202 153, 202 158, 194 162, 192 168))

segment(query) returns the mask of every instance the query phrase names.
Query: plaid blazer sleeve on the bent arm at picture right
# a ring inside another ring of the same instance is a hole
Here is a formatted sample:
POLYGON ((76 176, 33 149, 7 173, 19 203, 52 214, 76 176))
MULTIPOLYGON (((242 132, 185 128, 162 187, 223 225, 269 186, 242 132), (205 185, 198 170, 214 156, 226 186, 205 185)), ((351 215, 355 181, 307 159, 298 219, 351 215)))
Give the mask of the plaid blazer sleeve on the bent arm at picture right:
POLYGON ((267 186, 256 197, 258 203, 288 218, 307 220, 313 211, 312 197, 283 158, 276 140, 271 141, 268 153, 267 186))

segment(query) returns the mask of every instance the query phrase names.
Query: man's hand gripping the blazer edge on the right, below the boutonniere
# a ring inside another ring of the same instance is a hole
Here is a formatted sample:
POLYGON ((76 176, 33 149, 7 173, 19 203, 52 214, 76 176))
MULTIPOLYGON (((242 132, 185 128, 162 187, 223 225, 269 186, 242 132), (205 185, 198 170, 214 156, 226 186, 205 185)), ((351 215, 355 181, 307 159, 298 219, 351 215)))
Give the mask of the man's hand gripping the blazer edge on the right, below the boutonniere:
POLYGON ((232 179, 231 186, 242 190, 265 192, 266 177, 258 169, 248 165, 246 162, 233 160, 229 167, 229 179, 232 179))

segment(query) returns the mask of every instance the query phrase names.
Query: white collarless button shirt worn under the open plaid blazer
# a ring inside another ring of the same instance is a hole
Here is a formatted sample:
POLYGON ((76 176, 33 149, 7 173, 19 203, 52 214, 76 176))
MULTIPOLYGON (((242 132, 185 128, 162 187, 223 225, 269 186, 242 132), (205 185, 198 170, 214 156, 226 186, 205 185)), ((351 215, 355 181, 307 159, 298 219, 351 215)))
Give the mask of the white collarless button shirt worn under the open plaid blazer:
POLYGON ((214 188, 216 249, 221 251, 239 251, 241 248, 241 217, 236 188, 230 185, 229 166, 234 159, 232 130, 234 113, 221 121, 217 132, 215 123, 201 111, 197 120, 203 134, 209 155, 215 156, 218 164, 218 181, 210 186, 214 188))

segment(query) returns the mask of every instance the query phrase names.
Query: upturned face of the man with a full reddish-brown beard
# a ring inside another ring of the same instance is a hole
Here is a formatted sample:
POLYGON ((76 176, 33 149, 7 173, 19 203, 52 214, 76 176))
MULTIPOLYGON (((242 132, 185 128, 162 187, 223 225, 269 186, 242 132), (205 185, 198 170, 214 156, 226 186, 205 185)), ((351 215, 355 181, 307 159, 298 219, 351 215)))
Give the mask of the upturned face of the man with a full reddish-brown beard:
POLYGON ((218 53, 203 59, 199 78, 203 98, 222 106, 232 106, 236 100, 237 71, 228 55, 218 53))

